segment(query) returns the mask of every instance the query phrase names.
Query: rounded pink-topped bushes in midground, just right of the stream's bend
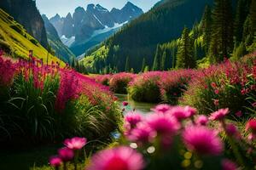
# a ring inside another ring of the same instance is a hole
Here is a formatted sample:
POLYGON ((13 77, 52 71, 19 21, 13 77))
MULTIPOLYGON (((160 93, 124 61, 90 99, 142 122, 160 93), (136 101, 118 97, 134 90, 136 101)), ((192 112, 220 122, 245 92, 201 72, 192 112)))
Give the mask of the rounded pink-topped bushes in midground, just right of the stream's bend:
POLYGON ((165 102, 177 105, 177 99, 195 77, 193 70, 151 71, 138 75, 129 86, 131 99, 143 102, 165 102))

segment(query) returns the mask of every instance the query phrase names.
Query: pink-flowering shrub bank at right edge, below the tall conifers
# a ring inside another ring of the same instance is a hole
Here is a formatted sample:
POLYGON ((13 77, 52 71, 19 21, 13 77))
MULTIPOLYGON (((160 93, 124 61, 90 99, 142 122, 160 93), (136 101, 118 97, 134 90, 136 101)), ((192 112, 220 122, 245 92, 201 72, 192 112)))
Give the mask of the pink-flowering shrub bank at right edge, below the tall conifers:
POLYGON ((212 65, 189 84, 180 103, 194 106, 201 114, 228 107, 233 117, 250 116, 256 101, 255 65, 254 54, 243 61, 212 65))

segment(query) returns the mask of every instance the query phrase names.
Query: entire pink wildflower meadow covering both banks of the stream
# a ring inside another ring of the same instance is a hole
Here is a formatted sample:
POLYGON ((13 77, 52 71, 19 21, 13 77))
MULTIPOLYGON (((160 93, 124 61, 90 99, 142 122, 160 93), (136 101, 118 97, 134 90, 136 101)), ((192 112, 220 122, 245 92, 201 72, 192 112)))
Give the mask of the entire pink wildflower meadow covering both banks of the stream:
POLYGON ((88 77, 1 54, 0 142, 57 143, 39 170, 255 169, 255 57, 88 77), (142 114, 114 94, 156 106, 142 114))

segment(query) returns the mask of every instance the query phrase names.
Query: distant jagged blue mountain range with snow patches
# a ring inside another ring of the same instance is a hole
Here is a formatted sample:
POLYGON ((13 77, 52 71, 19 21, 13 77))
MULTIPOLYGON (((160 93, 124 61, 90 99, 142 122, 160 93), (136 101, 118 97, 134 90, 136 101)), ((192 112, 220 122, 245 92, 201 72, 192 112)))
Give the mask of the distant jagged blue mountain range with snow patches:
POLYGON ((141 14, 143 10, 130 2, 121 9, 113 8, 111 11, 100 4, 89 4, 86 10, 76 8, 73 15, 69 13, 61 18, 56 14, 49 22, 55 26, 61 41, 79 56, 141 14))

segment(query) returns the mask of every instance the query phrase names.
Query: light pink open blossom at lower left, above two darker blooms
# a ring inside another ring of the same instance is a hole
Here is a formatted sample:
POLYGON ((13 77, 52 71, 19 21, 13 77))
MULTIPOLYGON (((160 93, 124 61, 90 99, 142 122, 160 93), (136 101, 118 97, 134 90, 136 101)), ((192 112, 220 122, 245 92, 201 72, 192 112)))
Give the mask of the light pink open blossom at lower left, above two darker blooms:
POLYGON ((86 144, 85 138, 74 137, 73 139, 66 139, 64 144, 71 150, 80 150, 86 144))

